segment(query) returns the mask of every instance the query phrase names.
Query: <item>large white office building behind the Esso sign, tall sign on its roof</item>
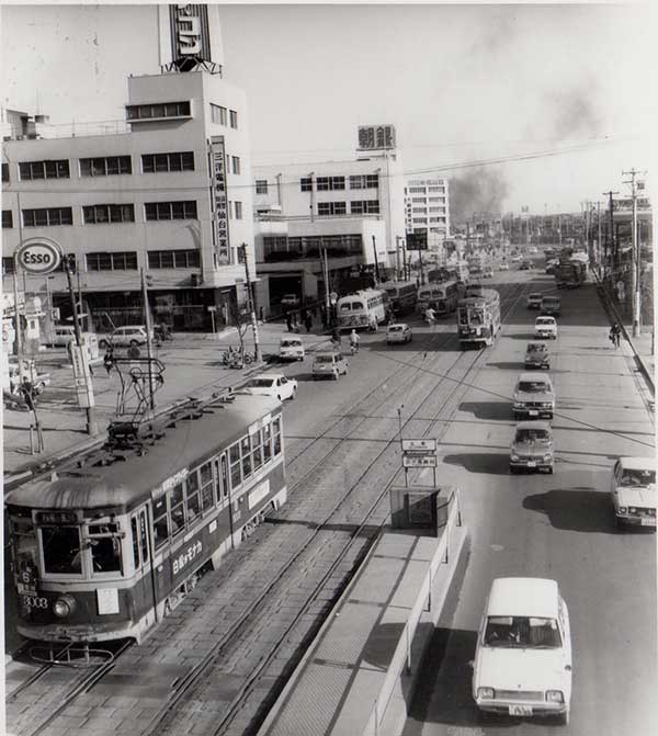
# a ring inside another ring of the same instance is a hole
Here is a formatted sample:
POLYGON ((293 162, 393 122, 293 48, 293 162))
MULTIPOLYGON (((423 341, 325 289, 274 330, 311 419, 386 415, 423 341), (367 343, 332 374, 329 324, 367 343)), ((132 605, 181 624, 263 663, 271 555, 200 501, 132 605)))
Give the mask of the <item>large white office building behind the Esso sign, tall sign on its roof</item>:
MULTIPOLYGON (((216 64, 185 61, 128 78, 124 132, 45 138, 13 126, 2 154, 4 291, 19 244, 47 237, 73 257, 97 327, 101 316, 141 321, 141 269, 156 319, 209 329, 208 307, 219 325, 235 319, 242 244, 254 272, 246 95, 216 64)), ((64 272, 27 275, 25 286, 70 314, 64 272)))

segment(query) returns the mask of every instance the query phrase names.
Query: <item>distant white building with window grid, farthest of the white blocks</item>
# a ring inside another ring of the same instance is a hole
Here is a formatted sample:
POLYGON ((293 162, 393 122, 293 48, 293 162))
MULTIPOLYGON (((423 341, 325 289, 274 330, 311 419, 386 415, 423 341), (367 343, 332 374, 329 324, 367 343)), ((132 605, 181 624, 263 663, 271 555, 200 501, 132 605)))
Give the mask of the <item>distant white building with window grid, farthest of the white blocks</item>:
POLYGON ((430 249, 450 237, 447 179, 406 178, 405 226, 407 233, 427 233, 430 249))

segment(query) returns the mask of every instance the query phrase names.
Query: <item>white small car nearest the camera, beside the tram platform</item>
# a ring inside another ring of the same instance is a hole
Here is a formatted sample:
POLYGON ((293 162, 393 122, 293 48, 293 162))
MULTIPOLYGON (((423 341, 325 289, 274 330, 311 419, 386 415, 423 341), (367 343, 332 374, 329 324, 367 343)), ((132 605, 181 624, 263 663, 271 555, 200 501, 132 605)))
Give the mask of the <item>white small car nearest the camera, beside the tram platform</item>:
POLYGON ((494 580, 473 663, 473 699, 481 711, 567 724, 571 657, 569 612, 555 580, 494 580))

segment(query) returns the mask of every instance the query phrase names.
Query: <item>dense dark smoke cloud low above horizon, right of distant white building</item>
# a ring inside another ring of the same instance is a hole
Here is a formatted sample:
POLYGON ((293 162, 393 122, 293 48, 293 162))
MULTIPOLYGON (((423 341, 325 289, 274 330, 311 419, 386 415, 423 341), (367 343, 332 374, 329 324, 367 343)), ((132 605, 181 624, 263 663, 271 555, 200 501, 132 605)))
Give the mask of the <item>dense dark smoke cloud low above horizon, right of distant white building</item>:
POLYGON ((449 188, 450 218, 455 225, 470 219, 473 213, 501 213, 509 191, 502 173, 485 167, 452 177, 449 188))

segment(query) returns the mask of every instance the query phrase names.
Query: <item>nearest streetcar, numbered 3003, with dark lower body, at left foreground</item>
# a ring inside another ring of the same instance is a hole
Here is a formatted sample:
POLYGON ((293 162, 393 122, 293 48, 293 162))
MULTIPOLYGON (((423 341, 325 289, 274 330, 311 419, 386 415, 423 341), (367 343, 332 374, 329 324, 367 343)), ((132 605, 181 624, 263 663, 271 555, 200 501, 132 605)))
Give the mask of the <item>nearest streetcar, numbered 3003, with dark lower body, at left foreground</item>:
POLYGON ((19 633, 141 642, 286 495, 281 404, 241 395, 20 486, 5 497, 19 633))

